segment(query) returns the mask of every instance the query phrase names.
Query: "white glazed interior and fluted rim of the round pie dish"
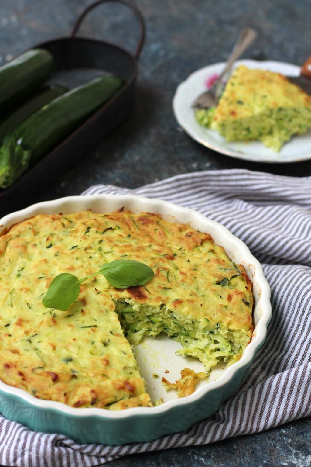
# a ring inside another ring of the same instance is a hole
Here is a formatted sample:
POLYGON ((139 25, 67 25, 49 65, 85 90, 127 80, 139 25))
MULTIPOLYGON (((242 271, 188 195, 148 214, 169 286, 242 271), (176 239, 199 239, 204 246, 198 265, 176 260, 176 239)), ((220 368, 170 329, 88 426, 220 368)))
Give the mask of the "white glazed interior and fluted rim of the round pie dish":
POLYGON ((36 406, 53 407, 62 410, 65 413, 79 416, 98 415, 105 418, 122 418, 132 416, 133 414, 147 414, 152 410, 153 413, 163 413, 172 405, 183 406, 184 404, 194 402, 196 399, 205 396, 210 389, 221 387, 230 382, 231 378, 239 368, 243 368, 249 361, 252 360, 256 350, 263 344, 266 336, 267 325, 271 318, 270 305, 270 287, 263 276, 263 269, 260 263, 251 255, 246 245, 237 239, 228 229, 217 222, 207 219, 202 214, 194 210, 180 207, 166 201, 158 199, 143 198, 136 195, 91 195, 91 196, 73 196, 68 198, 60 198, 53 201, 42 202, 12 214, 8 214, 0 220, 0 231, 5 227, 10 227, 16 222, 20 222, 26 218, 36 214, 58 213, 63 212, 79 212, 85 209, 92 209, 94 212, 110 212, 124 206, 133 212, 155 212, 159 213, 168 220, 177 220, 182 223, 189 223, 196 229, 210 233, 215 241, 222 245, 228 256, 236 263, 241 263, 246 269, 249 278, 253 282, 253 293, 255 297, 255 307, 253 313, 253 321, 255 330, 253 338, 245 349, 240 361, 234 363, 229 368, 225 369, 223 362, 215 367, 208 380, 203 380, 197 386, 197 389, 191 396, 176 398, 175 391, 166 392, 161 385, 161 377, 165 376, 169 381, 174 382, 180 378, 180 370, 187 367, 193 368, 194 371, 204 371, 200 361, 196 361, 191 357, 183 357, 175 355, 175 351, 180 348, 180 344, 166 336, 158 336, 156 338, 148 337, 134 347, 134 354, 137 357, 138 364, 141 368, 141 374, 145 377, 147 383, 147 391, 152 400, 158 397, 163 397, 165 403, 156 407, 146 408, 137 407, 121 411, 110 411, 97 408, 73 408, 65 404, 45 401, 37 399, 26 391, 8 386, 0 381, 0 389, 3 392, 14 394, 22 397, 36 406), (169 370, 165 374, 165 370, 169 370), (154 379, 152 373, 157 373, 159 378, 154 379), (208 383, 206 382, 208 381, 208 383), (155 389, 154 389, 155 388, 155 389))

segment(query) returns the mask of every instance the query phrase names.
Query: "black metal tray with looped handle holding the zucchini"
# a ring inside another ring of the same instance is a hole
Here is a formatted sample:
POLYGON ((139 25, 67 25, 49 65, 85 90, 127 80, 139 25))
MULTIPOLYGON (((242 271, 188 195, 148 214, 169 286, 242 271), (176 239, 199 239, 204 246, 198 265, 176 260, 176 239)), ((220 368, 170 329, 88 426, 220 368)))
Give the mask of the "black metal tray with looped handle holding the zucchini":
POLYGON ((87 7, 76 21, 69 37, 60 37, 36 44, 51 52, 55 60, 55 74, 51 82, 74 87, 101 74, 114 74, 124 80, 124 86, 83 123, 74 133, 33 165, 13 185, 0 189, 0 216, 22 209, 35 200, 35 196, 55 183, 55 177, 71 169, 76 162, 94 148, 100 140, 117 128, 131 113, 134 88, 138 74, 138 57, 145 40, 145 21, 138 7, 130 0, 98 0, 87 7), (137 50, 127 50, 100 40, 76 37, 86 14, 109 1, 131 8, 140 28, 137 50))

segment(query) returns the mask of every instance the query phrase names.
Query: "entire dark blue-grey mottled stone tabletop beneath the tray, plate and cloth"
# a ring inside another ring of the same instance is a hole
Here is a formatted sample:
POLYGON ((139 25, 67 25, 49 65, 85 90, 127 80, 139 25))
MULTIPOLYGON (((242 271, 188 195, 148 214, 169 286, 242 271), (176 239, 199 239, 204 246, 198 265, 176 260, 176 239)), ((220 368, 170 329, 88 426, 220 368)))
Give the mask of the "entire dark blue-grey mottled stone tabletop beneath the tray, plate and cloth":
MULTIPOLYGON (((0 3, 0 63, 57 35, 67 35, 87 0, 12 0, 0 3)), ((311 175, 311 161, 260 164, 222 156, 191 140, 172 111, 177 85, 196 69, 228 56, 238 31, 259 32, 247 58, 302 64, 310 54, 310 0, 137 0, 147 26, 131 118, 35 201, 76 195, 91 184, 130 188, 179 173, 247 168, 311 175), (309 39, 308 39, 309 38, 309 39), (308 39, 308 41, 306 41, 308 39)), ((120 5, 104 5, 83 24, 94 35, 135 49, 137 23, 120 5)), ((52 176, 52 175, 51 175, 52 176)), ((311 420, 209 446, 139 454, 111 462, 125 466, 310 466, 311 420)))

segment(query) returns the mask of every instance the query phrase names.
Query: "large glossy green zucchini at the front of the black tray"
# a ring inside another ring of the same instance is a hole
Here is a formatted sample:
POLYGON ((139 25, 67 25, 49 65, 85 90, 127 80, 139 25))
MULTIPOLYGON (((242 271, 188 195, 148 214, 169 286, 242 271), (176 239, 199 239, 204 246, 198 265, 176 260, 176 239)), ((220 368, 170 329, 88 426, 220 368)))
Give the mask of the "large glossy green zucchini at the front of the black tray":
POLYGON ((0 187, 10 186, 30 164, 79 127, 122 85, 117 77, 95 78, 52 100, 14 128, 0 148, 0 187))

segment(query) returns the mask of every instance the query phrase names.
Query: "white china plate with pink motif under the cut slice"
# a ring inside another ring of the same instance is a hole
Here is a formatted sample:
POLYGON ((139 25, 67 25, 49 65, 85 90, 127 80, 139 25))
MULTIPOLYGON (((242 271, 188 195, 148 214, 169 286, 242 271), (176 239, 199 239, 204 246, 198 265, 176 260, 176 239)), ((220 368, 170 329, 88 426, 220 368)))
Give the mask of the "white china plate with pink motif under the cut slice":
MULTIPOLYGON (((283 62, 257 62, 256 60, 238 60, 235 62, 235 66, 241 64, 248 68, 275 71, 285 76, 299 76, 300 73, 299 66, 283 62)), ((205 66, 194 71, 186 81, 178 86, 173 99, 173 109, 176 120, 186 133, 195 141, 207 146, 207 148, 238 159, 264 163, 298 162, 311 159, 311 130, 305 134, 294 136, 284 144, 280 152, 275 153, 257 141, 227 142, 216 131, 204 128, 197 123, 191 103, 202 92, 207 90, 205 86, 206 79, 215 73, 220 74, 223 67, 224 62, 205 66)))

